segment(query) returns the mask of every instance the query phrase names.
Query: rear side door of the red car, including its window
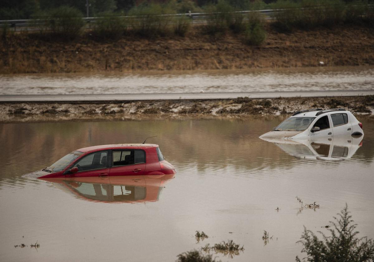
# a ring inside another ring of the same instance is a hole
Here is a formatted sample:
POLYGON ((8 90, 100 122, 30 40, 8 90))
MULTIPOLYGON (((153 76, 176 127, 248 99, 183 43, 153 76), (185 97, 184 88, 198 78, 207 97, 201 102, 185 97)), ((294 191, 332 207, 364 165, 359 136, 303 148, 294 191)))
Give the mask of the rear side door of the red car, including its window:
POLYGON ((142 175, 145 170, 145 151, 141 149, 112 150, 110 176, 142 175))

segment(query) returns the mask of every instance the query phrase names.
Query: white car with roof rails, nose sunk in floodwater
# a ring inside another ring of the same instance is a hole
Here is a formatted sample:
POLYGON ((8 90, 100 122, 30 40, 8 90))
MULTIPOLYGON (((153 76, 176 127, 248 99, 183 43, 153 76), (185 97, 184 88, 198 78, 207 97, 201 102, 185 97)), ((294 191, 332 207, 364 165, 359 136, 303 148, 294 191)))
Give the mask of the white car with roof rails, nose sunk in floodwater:
POLYGON ((363 135, 362 124, 351 112, 342 109, 309 109, 295 112, 261 139, 315 139, 336 135, 363 135))

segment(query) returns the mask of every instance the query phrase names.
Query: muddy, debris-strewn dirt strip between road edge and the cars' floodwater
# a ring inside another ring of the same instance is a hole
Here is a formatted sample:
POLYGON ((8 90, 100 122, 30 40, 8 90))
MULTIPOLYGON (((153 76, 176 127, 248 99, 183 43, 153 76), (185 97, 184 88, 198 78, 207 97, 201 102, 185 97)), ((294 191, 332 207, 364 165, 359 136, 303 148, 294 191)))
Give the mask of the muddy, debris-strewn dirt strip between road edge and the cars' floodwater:
POLYGON ((165 119, 239 115, 280 115, 310 108, 342 107, 374 114, 374 96, 234 100, 153 100, 108 103, 1 103, 0 122, 165 119))

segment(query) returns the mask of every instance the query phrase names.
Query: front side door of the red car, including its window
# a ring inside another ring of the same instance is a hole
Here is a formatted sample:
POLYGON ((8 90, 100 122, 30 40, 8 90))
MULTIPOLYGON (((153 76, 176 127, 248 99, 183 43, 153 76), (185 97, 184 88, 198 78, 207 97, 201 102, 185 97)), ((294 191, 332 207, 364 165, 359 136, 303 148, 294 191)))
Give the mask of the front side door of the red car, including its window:
POLYGON ((67 174, 67 177, 97 177, 108 176, 108 150, 89 153, 75 162, 70 168, 77 167, 78 172, 67 174))

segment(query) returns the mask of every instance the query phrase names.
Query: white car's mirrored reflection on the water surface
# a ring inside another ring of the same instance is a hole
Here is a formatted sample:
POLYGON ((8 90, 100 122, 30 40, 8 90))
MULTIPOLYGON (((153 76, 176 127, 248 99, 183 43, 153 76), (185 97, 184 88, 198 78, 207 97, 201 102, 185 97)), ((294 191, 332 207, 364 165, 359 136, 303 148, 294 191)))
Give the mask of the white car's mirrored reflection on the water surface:
POLYGON ((362 146, 364 135, 335 136, 305 140, 269 139, 291 156, 304 159, 344 160, 351 158, 362 146))

